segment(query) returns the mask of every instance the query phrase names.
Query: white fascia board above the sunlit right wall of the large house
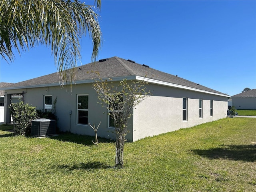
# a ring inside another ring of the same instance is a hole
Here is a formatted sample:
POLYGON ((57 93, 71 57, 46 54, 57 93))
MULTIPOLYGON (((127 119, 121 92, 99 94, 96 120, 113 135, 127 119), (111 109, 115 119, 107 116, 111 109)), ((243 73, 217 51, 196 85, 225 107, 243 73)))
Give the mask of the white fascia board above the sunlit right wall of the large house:
POLYGON ((168 86, 168 87, 174 87, 174 88, 185 89, 185 90, 201 92, 201 93, 207 93, 207 94, 212 94, 212 95, 218 95, 218 96, 223 96, 223 97, 230 97, 229 95, 225 95, 225 94, 214 93, 214 92, 210 92, 210 91, 200 90, 200 89, 196 89, 196 88, 192 88, 192 87, 187 87, 187 86, 183 86, 183 85, 168 83, 168 82, 154 80, 154 79, 140 77, 140 76, 136 76, 136 80, 144 80, 144 81, 147 81, 149 83, 168 86))

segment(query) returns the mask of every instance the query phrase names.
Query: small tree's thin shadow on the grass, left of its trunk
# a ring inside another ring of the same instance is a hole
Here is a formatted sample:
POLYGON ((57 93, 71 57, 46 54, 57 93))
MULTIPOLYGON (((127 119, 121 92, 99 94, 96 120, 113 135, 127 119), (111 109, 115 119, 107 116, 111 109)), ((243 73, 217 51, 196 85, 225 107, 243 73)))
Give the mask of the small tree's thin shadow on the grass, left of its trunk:
POLYGON ((67 170, 89 170, 89 169, 110 169, 114 168, 113 166, 107 165, 106 163, 101 163, 101 162, 88 162, 88 163, 80 163, 80 164, 75 164, 75 165, 58 165, 54 166, 54 168, 59 168, 59 169, 67 169, 67 170))

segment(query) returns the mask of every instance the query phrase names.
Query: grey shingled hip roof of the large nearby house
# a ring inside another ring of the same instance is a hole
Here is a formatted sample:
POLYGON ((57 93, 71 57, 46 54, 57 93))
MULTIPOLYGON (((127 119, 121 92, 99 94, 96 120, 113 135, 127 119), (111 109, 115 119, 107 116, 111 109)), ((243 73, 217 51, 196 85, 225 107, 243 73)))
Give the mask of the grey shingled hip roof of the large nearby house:
MULTIPOLYGON (((229 97, 224 93, 218 92, 200 84, 196 84, 184 78, 164 73, 150 68, 146 65, 137 64, 131 60, 125 60, 116 56, 86 65, 78 66, 74 82, 76 84, 94 82, 94 79, 97 79, 98 75, 92 73, 92 71, 99 72, 101 78, 112 78, 112 80, 121 80, 124 78, 128 80, 142 80, 146 77, 151 83, 190 89, 199 92, 214 93, 229 97)), ((12 84, 11 86, 9 86, 9 88, 6 88, 6 90, 57 85, 60 85, 60 78, 58 73, 53 73, 12 84)))

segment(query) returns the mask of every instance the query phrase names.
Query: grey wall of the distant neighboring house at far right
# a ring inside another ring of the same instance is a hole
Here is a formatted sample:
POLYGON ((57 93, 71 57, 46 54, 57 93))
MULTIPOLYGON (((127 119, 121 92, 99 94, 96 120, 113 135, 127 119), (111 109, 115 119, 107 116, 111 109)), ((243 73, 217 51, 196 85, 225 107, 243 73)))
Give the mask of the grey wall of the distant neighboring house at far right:
POLYGON ((256 110, 256 97, 232 98, 232 106, 236 109, 256 110))

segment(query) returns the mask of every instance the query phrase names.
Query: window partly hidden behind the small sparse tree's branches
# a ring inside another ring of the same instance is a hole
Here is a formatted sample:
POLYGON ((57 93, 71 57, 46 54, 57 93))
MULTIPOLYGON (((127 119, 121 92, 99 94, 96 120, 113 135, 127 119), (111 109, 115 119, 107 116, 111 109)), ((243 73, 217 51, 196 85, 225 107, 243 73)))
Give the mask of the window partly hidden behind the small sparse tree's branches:
POLYGON ((115 128, 115 122, 114 122, 114 118, 113 118, 113 114, 115 114, 115 116, 117 116, 118 114, 122 114, 122 111, 120 110, 120 108, 122 108, 121 103, 123 101, 123 94, 113 94, 113 96, 115 97, 115 99, 119 99, 119 102, 114 102, 112 104, 110 104, 109 108, 111 110, 108 110, 108 127, 109 128, 115 128))

